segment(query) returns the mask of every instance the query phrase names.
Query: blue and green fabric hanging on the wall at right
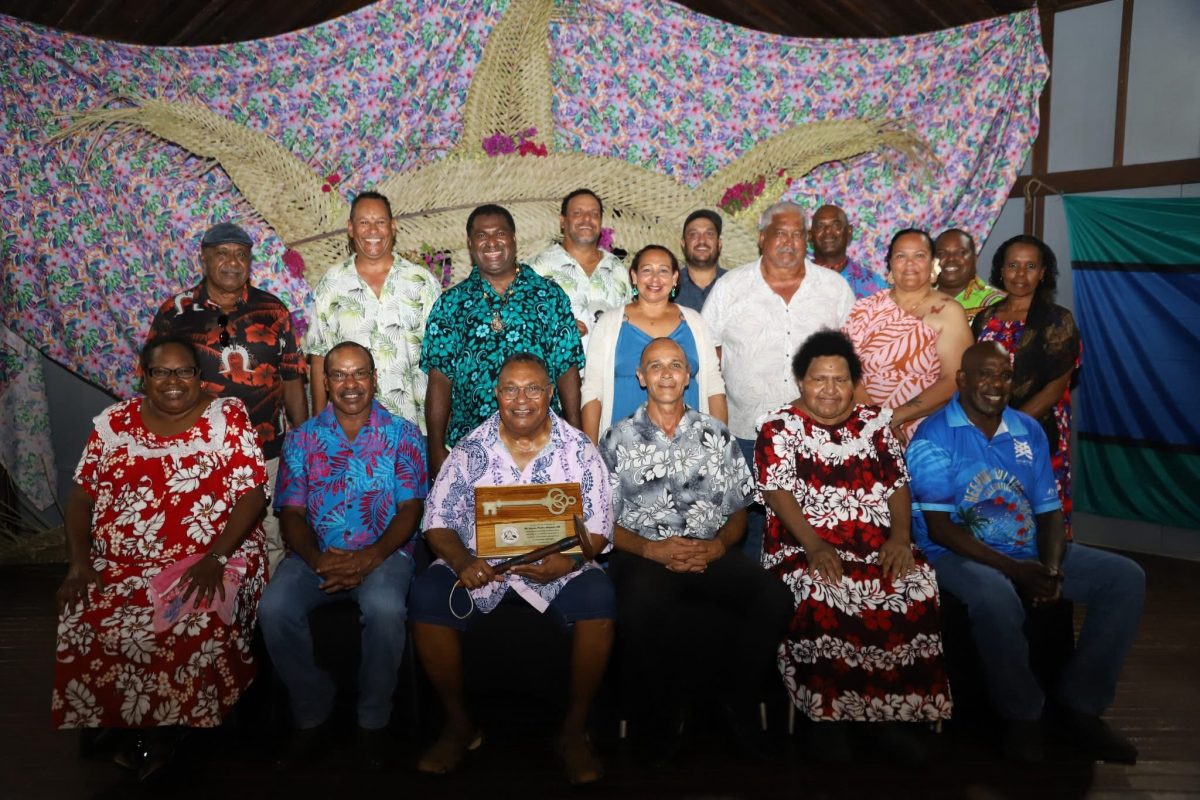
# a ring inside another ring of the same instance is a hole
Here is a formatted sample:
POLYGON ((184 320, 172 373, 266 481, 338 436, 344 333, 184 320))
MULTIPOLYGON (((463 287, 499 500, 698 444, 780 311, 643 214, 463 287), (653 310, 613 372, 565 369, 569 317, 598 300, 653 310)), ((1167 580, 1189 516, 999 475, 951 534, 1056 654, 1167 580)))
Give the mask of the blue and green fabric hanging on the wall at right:
POLYGON ((1068 197, 1075 509, 1200 528, 1200 199, 1068 197))

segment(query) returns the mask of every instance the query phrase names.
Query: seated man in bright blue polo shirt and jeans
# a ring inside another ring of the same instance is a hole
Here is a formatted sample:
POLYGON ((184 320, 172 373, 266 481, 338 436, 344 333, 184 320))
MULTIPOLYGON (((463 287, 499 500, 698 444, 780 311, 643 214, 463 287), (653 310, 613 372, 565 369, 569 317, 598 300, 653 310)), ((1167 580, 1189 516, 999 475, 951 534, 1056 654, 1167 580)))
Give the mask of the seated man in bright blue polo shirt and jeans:
POLYGON ((967 606, 989 693, 1008 721, 1003 746, 1043 758, 1044 697, 1030 669, 1022 597, 1087 606, 1055 699, 1075 744, 1100 760, 1134 763, 1138 750, 1100 718, 1138 631, 1146 576, 1127 558, 1066 541, 1045 433, 1008 408, 1007 351, 982 342, 962 355, 958 393, 918 428, 906 453, 913 539, 937 583, 967 606))

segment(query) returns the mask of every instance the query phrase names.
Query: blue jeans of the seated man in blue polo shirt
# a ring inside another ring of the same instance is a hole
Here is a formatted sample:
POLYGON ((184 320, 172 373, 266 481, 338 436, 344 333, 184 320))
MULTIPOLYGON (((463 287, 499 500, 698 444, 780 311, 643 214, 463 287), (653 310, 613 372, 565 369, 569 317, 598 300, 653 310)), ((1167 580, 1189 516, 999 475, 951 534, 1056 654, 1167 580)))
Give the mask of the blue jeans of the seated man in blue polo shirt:
MULTIPOLYGON (((940 555, 934 569, 938 587, 966 603, 996 710, 1006 720, 1039 718, 1045 698, 1030 670, 1025 606, 1013 583, 955 553, 940 555)), ((1146 573, 1122 555, 1082 545, 1067 545, 1062 572, 1063 599, 1086 606, 1087 616, 1055 694, 1069 709, 1099 716, 1112 703, 1138 633, 1146 573)))

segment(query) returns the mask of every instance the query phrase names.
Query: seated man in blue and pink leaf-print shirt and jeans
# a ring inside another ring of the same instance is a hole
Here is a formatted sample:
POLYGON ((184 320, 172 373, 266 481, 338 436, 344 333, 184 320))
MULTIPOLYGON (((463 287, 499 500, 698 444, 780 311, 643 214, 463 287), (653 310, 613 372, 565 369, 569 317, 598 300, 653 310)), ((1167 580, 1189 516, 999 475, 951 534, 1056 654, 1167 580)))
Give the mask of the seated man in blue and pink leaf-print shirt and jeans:
POLYGON ((283 444, 275 507, 290 552, 263 593, 258 619, 296 724, 282 765, 314 753, 334 710, 334 684, 313 660, 308 613, 343 597, 359 604, 359 744, 367 766, 379 769, 404 654, 409 540, 428 488, 425 441, 374 399, 374 360, 361 344, 334 345, 324 381, 330 404, 283 444))

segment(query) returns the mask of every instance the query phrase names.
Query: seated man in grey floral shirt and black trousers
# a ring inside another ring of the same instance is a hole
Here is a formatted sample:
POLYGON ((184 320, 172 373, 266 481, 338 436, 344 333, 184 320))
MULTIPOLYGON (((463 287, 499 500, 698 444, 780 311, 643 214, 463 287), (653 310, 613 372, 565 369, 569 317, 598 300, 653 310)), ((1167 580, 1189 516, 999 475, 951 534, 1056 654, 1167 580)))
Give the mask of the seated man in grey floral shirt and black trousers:
POLYGON ((634 735, 652 763, 668 760, 680 744, 684 698, 712 687, 738 747, 758 757, 761 684, 792 597, 737 547, 754 480, 728 428, 684 405, 683 349, 654 339, 637 378, 649 399, 600 441, 617 519, 610 575, 624 674, 643 717, 634 720, 634 735), (718 652, 726 654, 724 674, 709 667, 718 652))

